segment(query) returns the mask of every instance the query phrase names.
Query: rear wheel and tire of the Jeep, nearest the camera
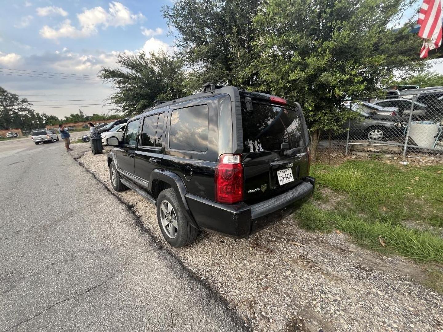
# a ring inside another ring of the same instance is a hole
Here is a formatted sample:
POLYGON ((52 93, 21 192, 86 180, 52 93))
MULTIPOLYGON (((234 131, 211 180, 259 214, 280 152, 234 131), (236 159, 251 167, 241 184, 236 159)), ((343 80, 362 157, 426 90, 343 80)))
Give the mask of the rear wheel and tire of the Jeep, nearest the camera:
POLYGON ((174 189, 163 190, 157 197, 156 205, 160 231, 172 247, 184 247, 195 240, 198 229, 187 221, 174 189))

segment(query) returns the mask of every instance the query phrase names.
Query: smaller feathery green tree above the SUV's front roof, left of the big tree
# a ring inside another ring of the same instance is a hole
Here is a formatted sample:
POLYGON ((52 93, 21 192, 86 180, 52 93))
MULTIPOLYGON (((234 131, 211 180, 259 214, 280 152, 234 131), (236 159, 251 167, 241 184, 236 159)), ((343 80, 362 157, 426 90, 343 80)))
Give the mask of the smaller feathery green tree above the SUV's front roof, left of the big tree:
POLYGON ((109 100, 127 116, 143 112, 154 100, 172 100, 189 94, 184 84, 183 61, 174 55, 121 53, 117 64, 121 69, 102 68, 99 77, 113 84, 117 91, 109 100))

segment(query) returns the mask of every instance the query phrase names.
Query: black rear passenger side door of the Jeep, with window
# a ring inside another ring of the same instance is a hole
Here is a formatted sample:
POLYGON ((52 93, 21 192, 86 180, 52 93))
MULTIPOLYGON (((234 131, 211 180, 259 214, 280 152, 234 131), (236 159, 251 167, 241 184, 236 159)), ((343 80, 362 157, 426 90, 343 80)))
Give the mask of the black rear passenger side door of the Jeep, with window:
POLYGON ((135 152, 134 168, 136 181, 146 189, 150 188, 149 181, 152 171, 162 165, 164 154, 163 123, 164 112, 167 108, 160 108, 142 118, 140 142, 135 152))

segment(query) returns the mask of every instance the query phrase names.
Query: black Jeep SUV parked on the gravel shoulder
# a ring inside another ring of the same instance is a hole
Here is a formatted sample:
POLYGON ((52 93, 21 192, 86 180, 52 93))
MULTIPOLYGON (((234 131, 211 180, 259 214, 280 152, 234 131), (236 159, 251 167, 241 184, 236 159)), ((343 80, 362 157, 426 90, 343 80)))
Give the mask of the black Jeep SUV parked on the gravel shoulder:
POLYGON ((300 105, 264 93, 204 85, 156 102, 107 139, 116 191, 157 207, 164 238, 191 243, 201 229, 242 238, 292 212, 314 191, 300 105))

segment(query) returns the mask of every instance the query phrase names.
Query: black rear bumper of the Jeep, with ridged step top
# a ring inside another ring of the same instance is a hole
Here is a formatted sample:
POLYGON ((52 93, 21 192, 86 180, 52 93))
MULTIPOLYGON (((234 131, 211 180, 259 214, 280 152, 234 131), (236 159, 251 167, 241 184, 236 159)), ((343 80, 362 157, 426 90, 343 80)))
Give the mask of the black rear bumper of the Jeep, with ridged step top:
POLYGON ((253 205, 220 204, 189 193, 185 197, 200 228, 241 239, 293 212, 311 198, 314 189, 315 179, 307 177, 289 191, 253 205))

